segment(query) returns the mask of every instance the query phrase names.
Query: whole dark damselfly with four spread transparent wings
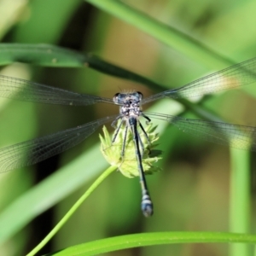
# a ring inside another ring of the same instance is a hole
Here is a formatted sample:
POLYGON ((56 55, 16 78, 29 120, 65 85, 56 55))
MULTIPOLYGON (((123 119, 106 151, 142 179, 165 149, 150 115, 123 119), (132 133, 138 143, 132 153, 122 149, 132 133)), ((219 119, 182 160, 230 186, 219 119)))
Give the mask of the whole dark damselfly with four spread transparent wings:
POLYGON ((119 124, 115 128, 112 143, 114 143, 115 137, 122 130, 121 127, 124 127, 124 146, 120 150, 120 155, 125 157, 125 139, 127 133, 131 132, 137 159, 138 177, 142 190, 141 208, 143 215, 149 217, 153 214, 154 209, 143 172, 143 143, 138 129, 143 131, 143 136, 147 138, 148 143, 150 141, 147 132, 143 128, 141 119, 145 119, 147 122, 150 122, 151 119, 164 120, 170 125, 177 126, 181 131, 212 143, 230 145, 231 147, 241 149, 249 148, 252 151, 256 151, 256 143, 254 141, 256 127, 203 119, 187 119, 166 113, 150 113, 143 111, 142 106, 166 97, 172 99, 199 97, 220 90, 229 90, 246 84, 253 84, 256 82, 255 71, 256 58, 253 58, 227 67, 217 73, 207 75, 202 79, 197 79, 177 89, 165 90, 147 98, 143 98, 141 92, 132 91, 119 92, 113 96, 113 99, 80 94, 25 79, 0 75, 1 97, 25 102, 69 106, 86 106, 96 103, 108 103, 119 106, 119 113, 113 116, 106 116, 65 131, 57 131, 44 137, 1 148, 0 172, 8 172, 22 166, 36 164, 81 143, 100 126, 108 122, 112 122, 113 125, 119 124))

